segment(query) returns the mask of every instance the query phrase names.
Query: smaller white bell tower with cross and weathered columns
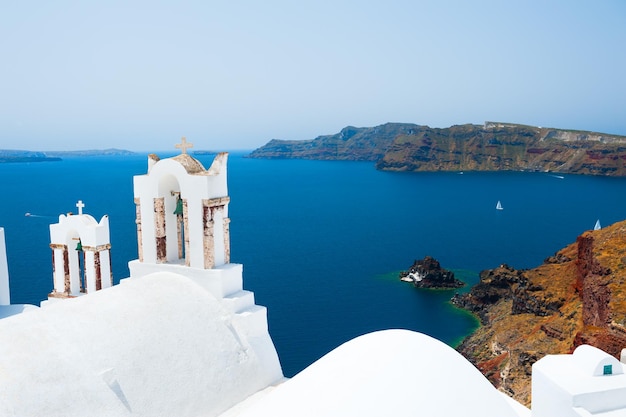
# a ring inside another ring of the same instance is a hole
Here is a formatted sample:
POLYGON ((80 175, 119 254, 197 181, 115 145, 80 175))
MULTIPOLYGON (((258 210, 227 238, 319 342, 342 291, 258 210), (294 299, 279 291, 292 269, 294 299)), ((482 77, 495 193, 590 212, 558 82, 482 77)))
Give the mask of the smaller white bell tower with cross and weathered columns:
POLYGON ((77 215, 62 214, 50 225, 54 289, 48 299, 77 297, 113 285, 109 217, 98 223, 83 214, 81 200, 76 207, 77 215))

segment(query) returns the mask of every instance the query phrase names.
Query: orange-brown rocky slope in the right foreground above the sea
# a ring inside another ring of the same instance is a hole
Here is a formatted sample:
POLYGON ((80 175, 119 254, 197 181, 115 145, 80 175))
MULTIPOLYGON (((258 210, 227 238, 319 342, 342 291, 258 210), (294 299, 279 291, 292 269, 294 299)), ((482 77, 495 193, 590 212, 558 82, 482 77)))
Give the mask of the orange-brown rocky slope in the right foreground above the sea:
POLYGON ((626 221, 585 232, 537 268, 501 265, 453 303, 482 326, 458 350, 489 380, 530 404, 531 366, 587 343, 619 358, 626 347, 626 221))

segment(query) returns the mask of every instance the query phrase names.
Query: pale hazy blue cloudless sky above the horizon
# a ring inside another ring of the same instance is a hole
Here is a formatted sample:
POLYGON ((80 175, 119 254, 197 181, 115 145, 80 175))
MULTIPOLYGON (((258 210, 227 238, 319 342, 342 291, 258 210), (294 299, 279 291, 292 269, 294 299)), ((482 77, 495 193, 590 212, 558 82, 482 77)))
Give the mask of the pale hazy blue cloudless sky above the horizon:
POLYGON ((626 1, 13 1, 0 148, 251 149, 347 125, 626 135, 626 1))

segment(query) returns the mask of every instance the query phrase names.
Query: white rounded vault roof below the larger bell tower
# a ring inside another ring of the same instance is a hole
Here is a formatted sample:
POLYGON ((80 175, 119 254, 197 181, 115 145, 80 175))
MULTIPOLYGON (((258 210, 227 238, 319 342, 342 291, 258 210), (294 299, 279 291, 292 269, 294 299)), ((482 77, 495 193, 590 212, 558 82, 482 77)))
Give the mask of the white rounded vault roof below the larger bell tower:
POLYGON ((0 415, 218 415, 282 378, 237 316, 156 273, 0 320, 0 415))

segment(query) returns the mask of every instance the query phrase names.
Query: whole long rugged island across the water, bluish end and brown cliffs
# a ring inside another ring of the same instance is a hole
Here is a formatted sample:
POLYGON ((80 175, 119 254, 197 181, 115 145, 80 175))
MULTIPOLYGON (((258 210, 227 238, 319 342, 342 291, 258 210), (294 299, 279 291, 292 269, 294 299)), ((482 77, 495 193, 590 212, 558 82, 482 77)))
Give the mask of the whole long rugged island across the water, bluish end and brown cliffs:
POLYGON ((626 176, 626 136, 485 122, 348 126, 310 140, 272 139, 250 158, 372 161, 388 171, 541 171, 626 176))

